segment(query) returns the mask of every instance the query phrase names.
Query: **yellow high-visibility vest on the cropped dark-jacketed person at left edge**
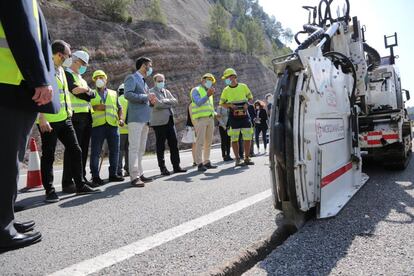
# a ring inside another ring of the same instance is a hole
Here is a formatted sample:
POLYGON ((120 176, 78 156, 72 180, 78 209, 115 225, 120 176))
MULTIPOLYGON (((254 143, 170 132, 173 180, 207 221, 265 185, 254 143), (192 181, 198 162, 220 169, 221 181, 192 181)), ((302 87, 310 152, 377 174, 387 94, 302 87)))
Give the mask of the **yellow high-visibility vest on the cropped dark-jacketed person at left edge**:
MULTIPOLYGON (((37 23, 38 39, 41 41, 37 1, 33 0, 32 5, 33 16, 37 23)), ((22 80, 24 80, 23 75, 17 66, 16 60, 13 57, 9 44, 7 43, 3 25, 0 22, 0 83, 20 85, 22 80)))

